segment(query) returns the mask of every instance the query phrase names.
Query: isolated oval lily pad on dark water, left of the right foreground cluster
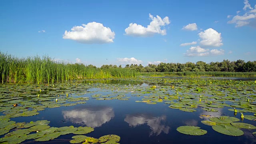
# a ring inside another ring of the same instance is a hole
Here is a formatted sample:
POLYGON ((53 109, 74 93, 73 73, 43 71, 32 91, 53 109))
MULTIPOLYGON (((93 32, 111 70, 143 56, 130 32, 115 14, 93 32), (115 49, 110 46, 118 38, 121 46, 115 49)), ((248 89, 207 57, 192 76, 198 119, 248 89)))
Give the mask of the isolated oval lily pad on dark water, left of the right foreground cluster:
POLYGON ((198 126, 180 126, 177 131, 182 134, 188 134, 193 136, 200 136, 207 133, 206 130, 201 130, 198 126))

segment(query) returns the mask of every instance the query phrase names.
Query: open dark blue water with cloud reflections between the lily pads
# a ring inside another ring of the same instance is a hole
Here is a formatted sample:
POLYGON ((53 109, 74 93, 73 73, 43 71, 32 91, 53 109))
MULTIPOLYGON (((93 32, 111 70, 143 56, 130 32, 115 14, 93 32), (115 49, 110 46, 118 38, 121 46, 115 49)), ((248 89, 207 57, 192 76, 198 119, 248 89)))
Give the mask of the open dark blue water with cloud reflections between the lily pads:
MULTIPOLYGON (((111 94, 108 92, 95 92, 92 94, 111 94)), ((90 97, 92 94, 84 96, 90 97)), ((59 108, 46 108, 40 114, 30 117, 12 118, 16 122, 30 122, 36 120, 49 120, 50 126, 90 126, 94 131, 85 134, 99 138, 107 134, 116 134, 121 137, 120 144, 255 144, 256 138, 252 132, 256 130, 242 129, 243 136, 228 136, 212 130, 211 126, 201 123, 199 116, 208 114, 211 116, 233 116, 234 112, 228 108, 219 108, 219 112, 206 112, 196 108, 197 112, 183 112, 178 109, 168 108, 168 104, 146 104, 135 102, 142 97, 132 96, 128 93, 129 100, 96 100, 90 97, 86 104, 76 106, 61 106, 59 108), (190 136, 179 133, 179 126, 199 126, 207 130, 203 136, 190 136)), ((246 113, 244 113, 246 115, 246 113)), ((252 114, 252 113, 248 113, 252 114)), ((240 118, 240 114, 236 115, 240 118)), ((240 121, 241 122, 241 121, 240 121)), ((256 125, 256 121, 244 119, 245 123, 256 125)), ((32 143, 56 143, 69 144, 74 134, 60 136, 48 142, 35 142, 27 140, 24 144, 32 143)))

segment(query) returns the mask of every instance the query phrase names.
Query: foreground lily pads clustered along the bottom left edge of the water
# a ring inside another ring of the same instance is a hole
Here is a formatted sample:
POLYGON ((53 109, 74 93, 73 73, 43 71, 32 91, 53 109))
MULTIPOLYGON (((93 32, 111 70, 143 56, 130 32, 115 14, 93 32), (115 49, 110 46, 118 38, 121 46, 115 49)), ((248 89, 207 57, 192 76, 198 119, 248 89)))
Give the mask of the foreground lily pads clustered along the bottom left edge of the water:
POLYGON ((74 126, 64 126, 60 128, 50 127, 48 120, 38 120, 36 122, 20 122, 16 123, 10 121, 10 119, 2 119, 0 121, 0 135, 6 134, 9 130, 14 129, 12 132, 6 134, 3 138, 0 138, 2 144, 18 144, 25 140, 33 139, 35 141, 48 141, 58 138, 61 135, 66 134, 79 134, 73 136, 74 140, 70 140, 70 143, 80 143, 91 144, 99 142, 101 144, 118 144, 120 137, 117 135, 106 135, 102 136, 99 139, 84 136, 81 134, 88 134, 94 131, 94 128, 91 127, 74 127, 74 126))

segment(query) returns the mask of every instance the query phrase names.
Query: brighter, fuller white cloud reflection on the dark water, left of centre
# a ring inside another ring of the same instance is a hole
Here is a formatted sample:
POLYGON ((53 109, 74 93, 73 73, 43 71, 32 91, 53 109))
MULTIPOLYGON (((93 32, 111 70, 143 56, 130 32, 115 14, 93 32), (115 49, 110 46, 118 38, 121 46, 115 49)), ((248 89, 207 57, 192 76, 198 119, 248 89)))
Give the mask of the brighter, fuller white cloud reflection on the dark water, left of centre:
POLYGON ((99 106, 62 111, 62 114, 65 120, 70 120, 76 124, 84 124, 92 128, 109 122, 115 116, 113 108, 99 106))

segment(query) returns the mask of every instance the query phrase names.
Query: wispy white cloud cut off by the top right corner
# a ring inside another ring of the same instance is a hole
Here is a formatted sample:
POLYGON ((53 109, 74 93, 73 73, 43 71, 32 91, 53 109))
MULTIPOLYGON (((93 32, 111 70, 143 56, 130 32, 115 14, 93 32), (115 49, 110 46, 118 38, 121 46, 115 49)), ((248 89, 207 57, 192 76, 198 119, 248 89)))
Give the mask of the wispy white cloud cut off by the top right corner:
POLYGON ((244 0, 244 14, 238 15, 240 13, 237 12, 237 15, 232 18, 232 20, 228 21, 228 24, 236 24, 235 27, 241 27, 249 25, 250 23, 255 23, 256 21, 256 5, 254 8, 251 7, 248 0, 244 0))

